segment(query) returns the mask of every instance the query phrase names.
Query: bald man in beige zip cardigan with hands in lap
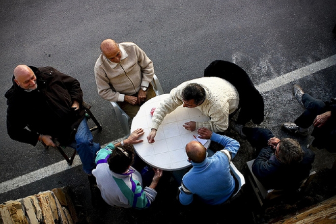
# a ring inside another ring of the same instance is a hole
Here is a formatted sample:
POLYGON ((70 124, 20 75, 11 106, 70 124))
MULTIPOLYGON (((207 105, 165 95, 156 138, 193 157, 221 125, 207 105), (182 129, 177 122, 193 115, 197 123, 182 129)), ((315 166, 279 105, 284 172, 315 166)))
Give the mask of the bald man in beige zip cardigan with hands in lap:
POLYGON ((155 96, 151 85, 153 62, 136 44, 106 39, 95 64, 95 79, 101 98, 117 102, 133 118, 140 106, 155 96))

